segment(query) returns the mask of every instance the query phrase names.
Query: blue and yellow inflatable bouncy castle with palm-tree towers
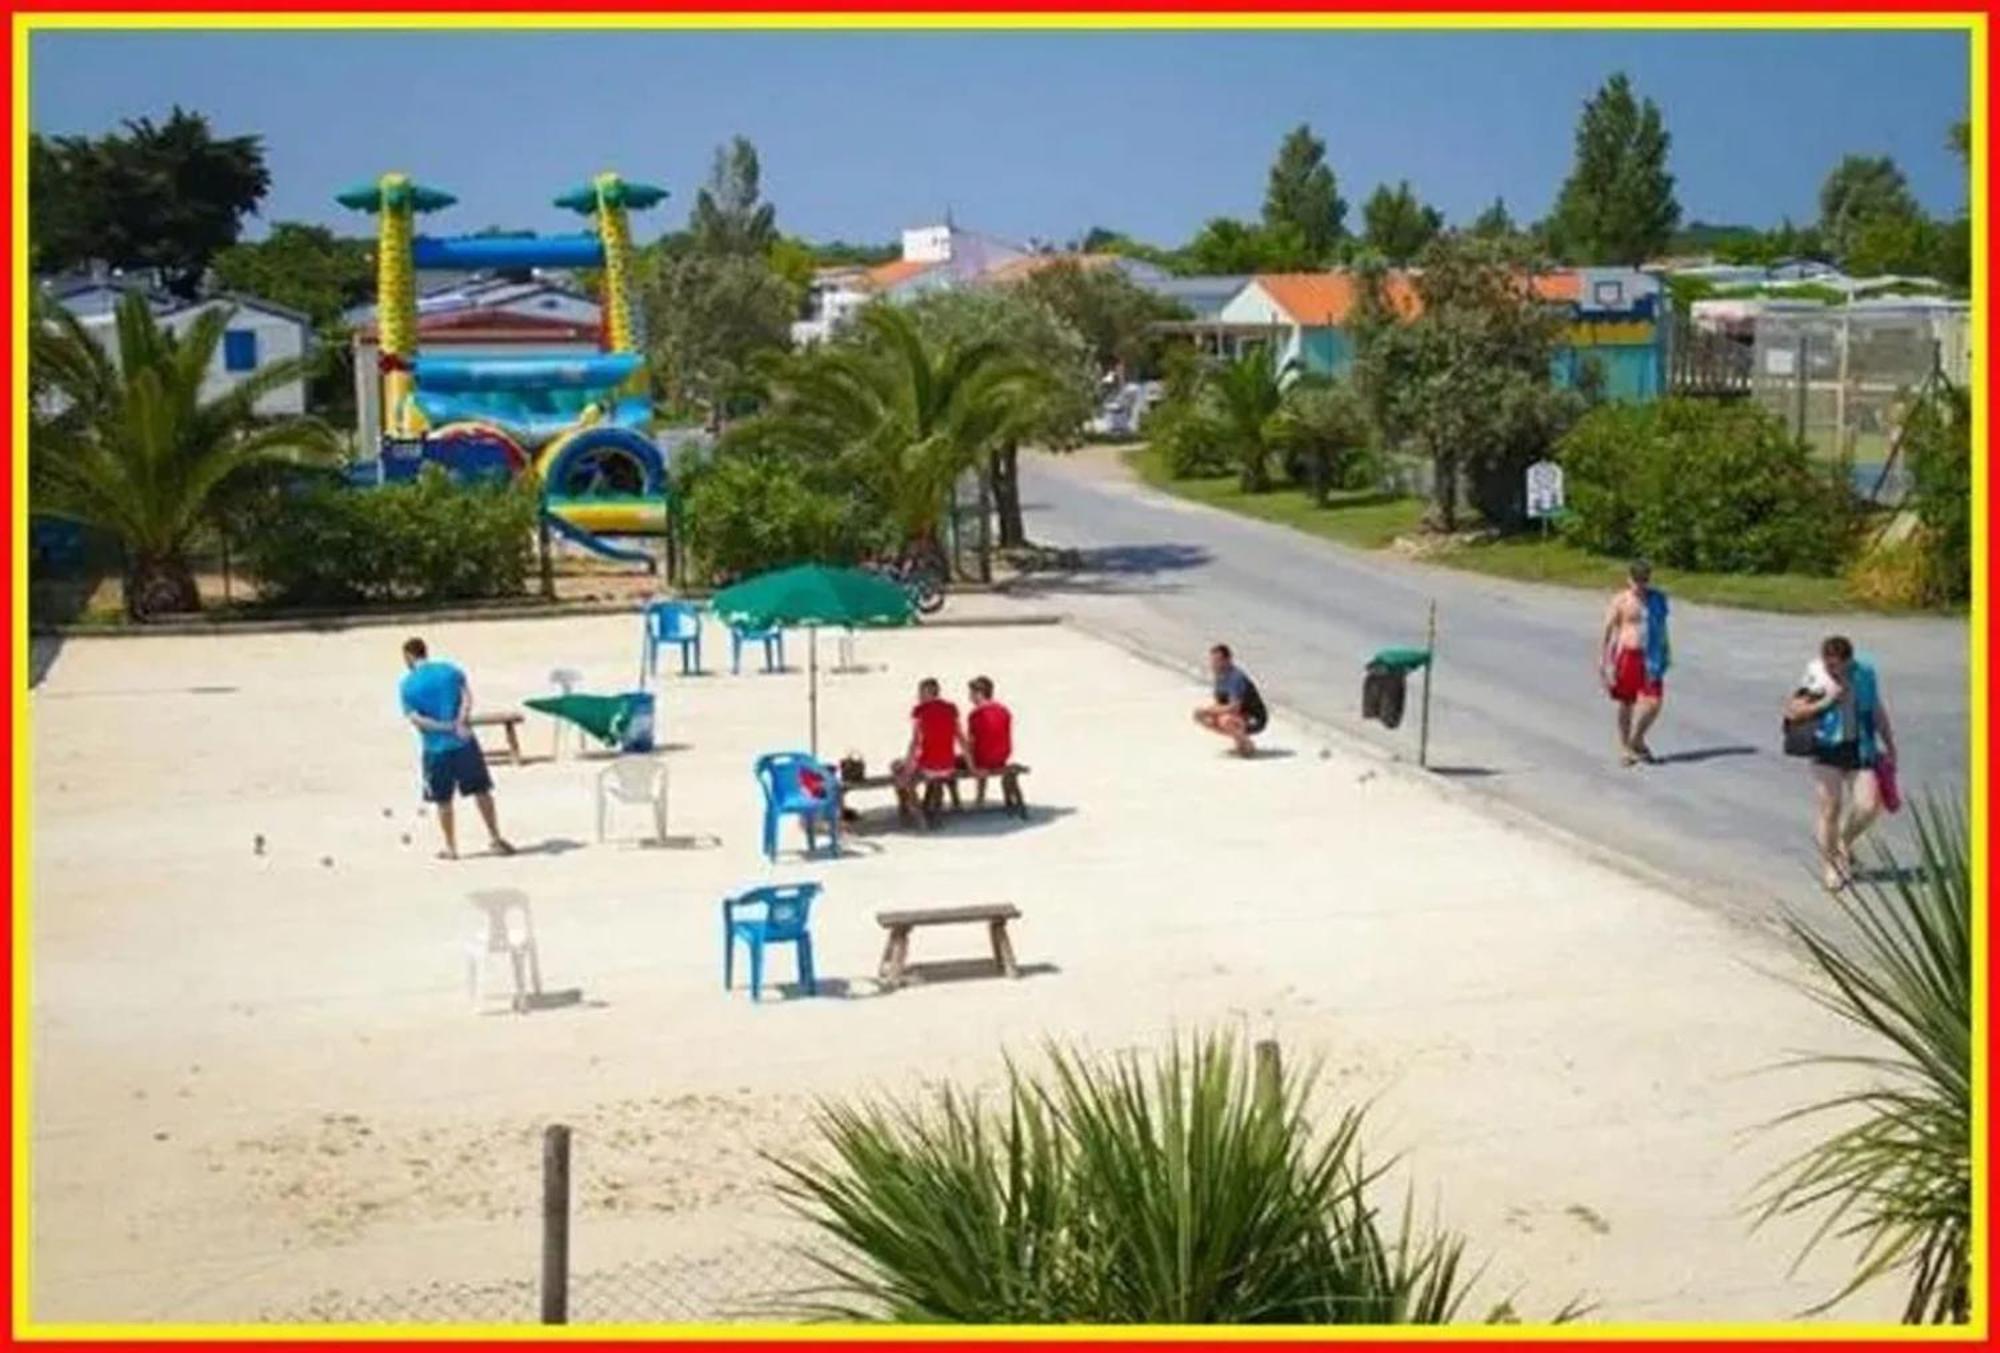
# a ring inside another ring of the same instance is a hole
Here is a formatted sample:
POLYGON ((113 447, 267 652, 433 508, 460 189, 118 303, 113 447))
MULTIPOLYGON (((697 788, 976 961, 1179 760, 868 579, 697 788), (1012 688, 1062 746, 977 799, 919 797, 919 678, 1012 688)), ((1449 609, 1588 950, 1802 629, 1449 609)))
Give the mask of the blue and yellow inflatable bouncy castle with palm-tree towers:
POLYGON ((376 330, 382 368, 378 482, 424 464, 456 476, 532 474, 550 528, 606 558, 654 566, 612 536, 666 532, 666 464, 648 436, 652 400, 636 322, 628 212, 664 188, 598 174, 556 198, 594 230, 568 236, 428 238, 416 216, 456 198, 384 174, 336 200, 376 216, 376 330), (416 274, 424 268, 600 268, 604 350, 594 356, 424 356, 416 346, 416 274))

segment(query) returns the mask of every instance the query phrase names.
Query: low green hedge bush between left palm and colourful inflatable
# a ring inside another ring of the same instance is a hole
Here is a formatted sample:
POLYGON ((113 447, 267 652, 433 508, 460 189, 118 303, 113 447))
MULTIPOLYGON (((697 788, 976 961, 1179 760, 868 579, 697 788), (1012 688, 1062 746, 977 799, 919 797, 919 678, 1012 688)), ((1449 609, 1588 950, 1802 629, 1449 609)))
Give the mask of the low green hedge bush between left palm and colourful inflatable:
POLYGON ((244 554, 264 598, 288 606, 516 596, 534 514, 526 484, 456 484, 432 466, 412 484, 276 490, 244 554))

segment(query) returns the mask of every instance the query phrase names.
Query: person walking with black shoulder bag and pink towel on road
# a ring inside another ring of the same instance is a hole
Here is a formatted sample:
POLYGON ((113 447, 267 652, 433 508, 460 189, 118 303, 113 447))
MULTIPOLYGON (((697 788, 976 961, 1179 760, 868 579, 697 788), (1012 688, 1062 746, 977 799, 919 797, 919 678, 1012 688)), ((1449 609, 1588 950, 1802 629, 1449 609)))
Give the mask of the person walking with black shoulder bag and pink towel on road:
POLYGON ((1854 843, 1882 813, 1878 767, 1896 761, 1896 733, 1874 664, 1856 656, 1844 634, 1830 634, 1784 717, 1812 725, 1814 839, 1824 883, 1838 891, 1852 881, 1854 843))

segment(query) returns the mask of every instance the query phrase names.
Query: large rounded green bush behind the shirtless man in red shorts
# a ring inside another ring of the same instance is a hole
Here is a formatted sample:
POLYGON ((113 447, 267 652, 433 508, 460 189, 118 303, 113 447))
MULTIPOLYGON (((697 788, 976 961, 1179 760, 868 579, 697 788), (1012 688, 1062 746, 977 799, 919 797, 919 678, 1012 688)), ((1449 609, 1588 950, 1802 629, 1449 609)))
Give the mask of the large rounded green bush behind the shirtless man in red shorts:
POLYGON ((1838 572, 1856 532, 1844 474, 1750 404, 1602 404, 1556 444, 1564 534, 1704 572, 1838 572))

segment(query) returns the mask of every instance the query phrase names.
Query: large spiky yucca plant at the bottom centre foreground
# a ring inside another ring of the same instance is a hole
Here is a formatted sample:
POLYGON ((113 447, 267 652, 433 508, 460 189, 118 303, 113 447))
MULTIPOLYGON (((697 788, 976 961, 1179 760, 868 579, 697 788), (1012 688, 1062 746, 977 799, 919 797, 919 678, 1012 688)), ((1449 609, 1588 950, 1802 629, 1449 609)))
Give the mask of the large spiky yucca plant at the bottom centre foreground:
POLYGON ((828 1105, 830 1159, 774 1159, 826 1247, 794 1311, 902 1323, 1436 1325, 1464 1241, 1390 1231, 1362 1115, 1324 1131, 1312 1075, 1250 1073, 1234 1039, 1150 1065, 1050 1049, 1004 1103, 828 1105))

